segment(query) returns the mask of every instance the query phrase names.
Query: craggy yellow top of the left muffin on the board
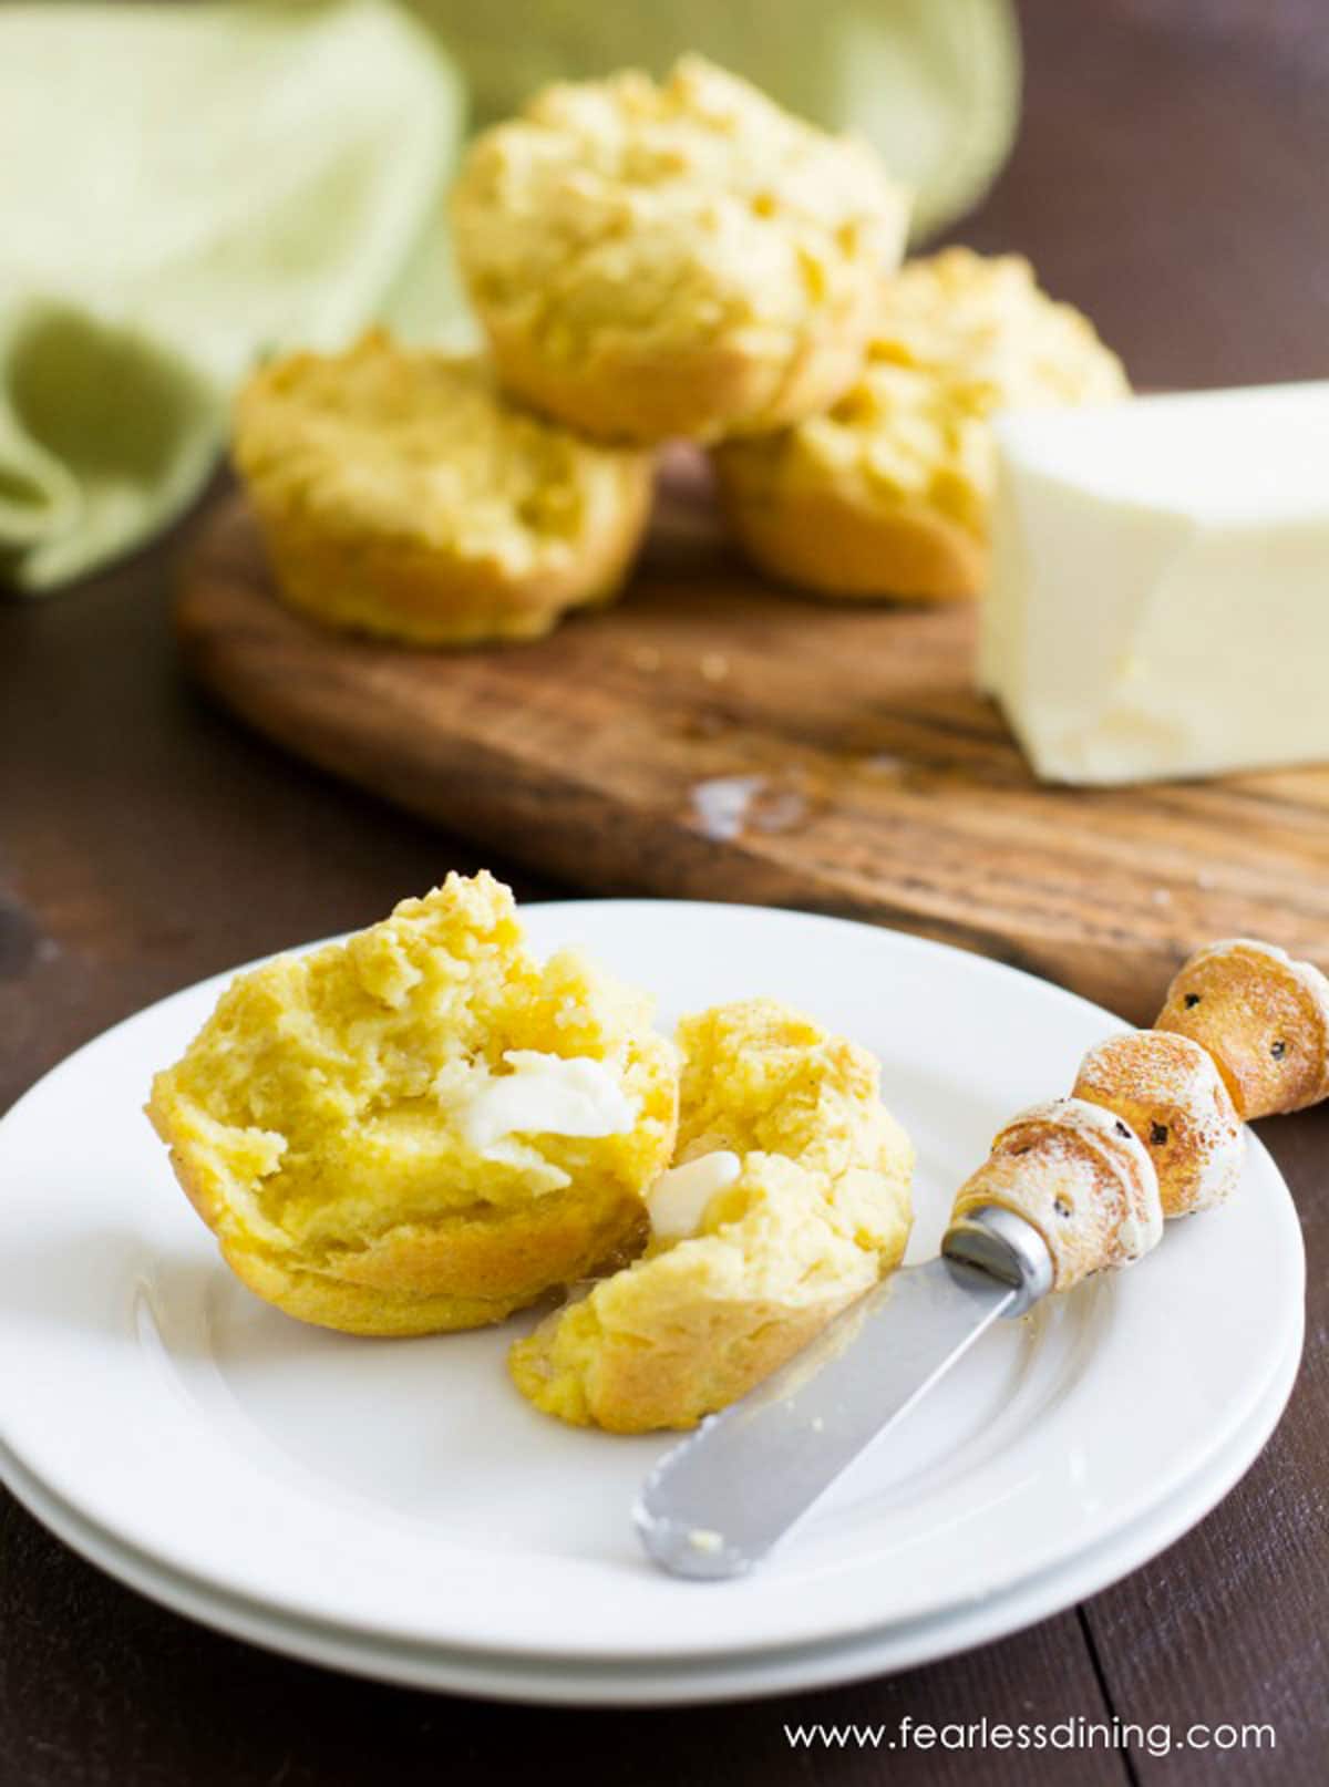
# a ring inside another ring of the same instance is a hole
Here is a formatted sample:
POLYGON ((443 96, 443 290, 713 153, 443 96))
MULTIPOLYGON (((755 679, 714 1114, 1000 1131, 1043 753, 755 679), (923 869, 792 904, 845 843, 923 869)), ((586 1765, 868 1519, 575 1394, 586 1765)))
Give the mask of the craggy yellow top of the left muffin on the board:
POLYGON ((347 541, 386 536, 512 572, 614 525, 649 465, 512 404, 483 357, 402 348, 381 331, 256 372, 234 459, 261 504, 347 541))

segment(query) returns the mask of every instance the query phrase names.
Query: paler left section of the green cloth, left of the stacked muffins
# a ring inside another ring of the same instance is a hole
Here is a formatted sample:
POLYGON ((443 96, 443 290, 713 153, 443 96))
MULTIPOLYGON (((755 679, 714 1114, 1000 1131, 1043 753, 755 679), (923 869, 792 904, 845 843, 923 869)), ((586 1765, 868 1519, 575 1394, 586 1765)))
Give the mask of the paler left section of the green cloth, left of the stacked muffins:
POLYGON ((0 583, 165 525, 272 347, 442 325, 460 82, 392 0, 0 7, 0 583), (402 291, 401 281, 413 279, 402 291))

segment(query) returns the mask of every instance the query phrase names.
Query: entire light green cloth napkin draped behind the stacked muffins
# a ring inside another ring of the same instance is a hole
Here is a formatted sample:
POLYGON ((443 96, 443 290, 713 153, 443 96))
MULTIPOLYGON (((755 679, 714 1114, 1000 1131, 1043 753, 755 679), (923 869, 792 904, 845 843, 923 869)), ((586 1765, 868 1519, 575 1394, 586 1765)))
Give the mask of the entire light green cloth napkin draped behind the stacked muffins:
POLYGON ((0 590, 165 527, 259 354, 374 316, 465 332, 440 227, 463 82, 485 120, 694 48, 875 139, 916 236, 1014 132, 1011 0, 0 5, 0 590))

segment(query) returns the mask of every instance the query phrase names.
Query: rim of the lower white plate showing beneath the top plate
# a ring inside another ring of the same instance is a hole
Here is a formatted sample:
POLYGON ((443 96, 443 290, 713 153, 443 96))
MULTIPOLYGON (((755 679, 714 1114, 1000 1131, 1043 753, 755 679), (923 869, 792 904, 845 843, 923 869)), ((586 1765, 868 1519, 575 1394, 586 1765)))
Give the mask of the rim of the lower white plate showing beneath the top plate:
POLYGON ((1245 1474, 1277 1426, 1300 1363, 1302 1324, 1279 1362, 1263 1397, 1238 1433, 1168 1501, 1139 1521, 1080 1551, 1061 1569, 1045 1571, 1002 1594, 932 1619, 885 1626, 841 1644, 814 1644, 792 1651, 748 1655, 732 1651, 705 1662, 569 1664, 558 1658, 515 1658, 495 1653, 449 1651, 438 1646, 394 1646, 361 1632, 345 1632, 286 1619, 270 1607, 238 1601, 186 1576, 161 1569, 152 1558, 118 1546, 100 1528, 80 1521, 48 1498, 11 1458, 0 1453, 0 1474, 29 1510, 61 1539, 120 1581, 161 1601, 177 1614, 252 1644, 301 1657, 304 1662, 347 1669, 402 1687, 481 1694, 492 1699, 546 1701, 572 1707, 665 1707, 715 1699, 751 1699, 837 1687, 894 1669, 914 1669, 957 1651, 1005 1637, 1021 1626, 1059 1614, 1084 1596, 1138 1569, 1170 1546, 1245 1474), (5 1469, 7 1465, 7 1469, 5 1469))

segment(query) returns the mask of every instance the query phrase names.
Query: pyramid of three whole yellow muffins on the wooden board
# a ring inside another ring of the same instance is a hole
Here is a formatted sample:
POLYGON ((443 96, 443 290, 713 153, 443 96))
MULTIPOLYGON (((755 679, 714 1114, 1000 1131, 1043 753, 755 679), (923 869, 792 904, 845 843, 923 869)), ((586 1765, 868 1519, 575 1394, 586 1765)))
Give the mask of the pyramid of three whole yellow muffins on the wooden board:
POLYGON ((987 418, 1129 386, 1016 257, 900 268, 864 143, 698 57, 562 84, 476 139, 453 198, 485 354, 290 354, 234 459, 292 606, 417 645, 537 638, 622 586, 655 450, 710 450, 739 547, 826 597, 975 595, 987 418))

